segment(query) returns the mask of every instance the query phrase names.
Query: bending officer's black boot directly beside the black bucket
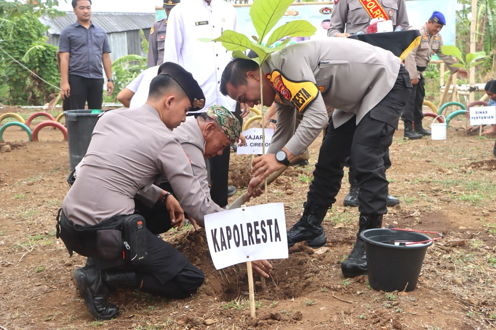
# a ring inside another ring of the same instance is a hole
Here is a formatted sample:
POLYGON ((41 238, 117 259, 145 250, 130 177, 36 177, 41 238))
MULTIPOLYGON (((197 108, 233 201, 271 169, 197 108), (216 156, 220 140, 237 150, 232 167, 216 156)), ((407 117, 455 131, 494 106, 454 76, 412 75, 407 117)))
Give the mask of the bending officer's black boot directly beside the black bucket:
POLYGON ((355 277, 367 274, 365 246, 364 241, 360 238, 360 233, 365 229, 380 228, 381 225, 382 215, 360 214, 357 242, 348 256, 348 259, 341 263, 341 271, 345 277, 355 277))

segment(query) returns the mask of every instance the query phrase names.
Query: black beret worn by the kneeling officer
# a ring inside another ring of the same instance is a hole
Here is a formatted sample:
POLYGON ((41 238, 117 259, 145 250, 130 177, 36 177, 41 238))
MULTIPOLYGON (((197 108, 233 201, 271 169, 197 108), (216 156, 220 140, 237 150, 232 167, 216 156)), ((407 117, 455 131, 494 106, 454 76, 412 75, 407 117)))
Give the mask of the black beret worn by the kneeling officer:
POLYGON ((205 95, 193 75, 186 71, 181 65, 173 62, 165 62, 158 68, 157 74, 168 74, 183 88, 191 102, 192 110, 201 110, 205 107, 205 95))

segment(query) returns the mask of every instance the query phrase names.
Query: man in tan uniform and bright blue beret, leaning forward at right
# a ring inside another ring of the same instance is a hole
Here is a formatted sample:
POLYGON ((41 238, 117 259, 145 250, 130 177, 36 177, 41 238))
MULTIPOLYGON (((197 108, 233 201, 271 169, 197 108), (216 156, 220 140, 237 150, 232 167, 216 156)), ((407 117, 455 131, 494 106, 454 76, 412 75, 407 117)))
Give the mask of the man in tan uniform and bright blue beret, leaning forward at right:
POLYGON ((415 126, 416 133, 431 135, 430 131, 422 127, 422 119, 424 118, 422 103, 426 95, 424 88, 425 80, 422 72, 427 69, 432 55, 437 54, 448 66, 451 73, 458 72, 465 77, 468 75, 466 70, 451 66, 451 64, 456 63, 456 60, 452 56, 444 55, 441 52, 443 42, 439 31, 441 31, 444 25, 446 25, 444 15, 439 11, 434 11, 427 23, 424 23, 419 28, 420 36, 422 37, 420 46, 405 58, 405 66, 414 85, 410 99, 401 114, 401 119, 405 124, 405 135, 408 130, 412 130, 412 123, 415 126))

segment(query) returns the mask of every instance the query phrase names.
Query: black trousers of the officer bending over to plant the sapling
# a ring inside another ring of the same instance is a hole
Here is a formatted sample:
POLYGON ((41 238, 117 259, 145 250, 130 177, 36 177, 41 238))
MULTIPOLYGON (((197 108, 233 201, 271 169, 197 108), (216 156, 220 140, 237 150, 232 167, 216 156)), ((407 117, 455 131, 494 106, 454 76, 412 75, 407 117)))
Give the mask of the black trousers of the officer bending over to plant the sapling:
MULTIPOLYGON (((402 67, 400 73, 404 68, 402 67)), ((410 95, 408 74, 398 75, 391 91, 356 125, 356 116, 334 128, 332 119, 320 146, 317 164, 307 199, 330 207, 341 188, 346 158, 353 159, 353 169, 360 192, 359 211, 370 215, 387 213, 388 181, 384 155, 391 145, 399 114, 410 95), (380 112, 378 112, 380 111, 380 112), (388 122, 375 118, 388 118, 388 122)))

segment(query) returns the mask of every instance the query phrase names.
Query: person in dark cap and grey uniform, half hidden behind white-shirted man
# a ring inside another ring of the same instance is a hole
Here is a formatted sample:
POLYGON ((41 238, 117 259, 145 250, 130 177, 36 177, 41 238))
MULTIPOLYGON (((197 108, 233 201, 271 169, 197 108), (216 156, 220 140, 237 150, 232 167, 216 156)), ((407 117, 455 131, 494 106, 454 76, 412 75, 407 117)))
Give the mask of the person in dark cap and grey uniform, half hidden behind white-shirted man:
POLYGON ((148 40, 148 66, 160 65, 164 62, 164 42, 167 33, 167 18, 169 13, 176 4, 181 0, 164 0, 163 8, 165 9, 166 18, 156 21, 150 29, 150 38, 148 40))

